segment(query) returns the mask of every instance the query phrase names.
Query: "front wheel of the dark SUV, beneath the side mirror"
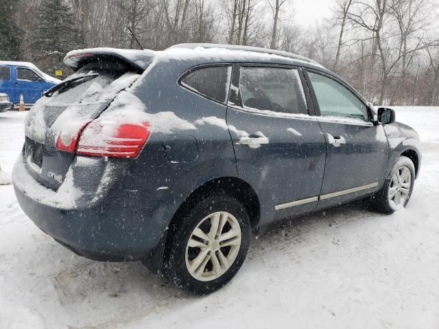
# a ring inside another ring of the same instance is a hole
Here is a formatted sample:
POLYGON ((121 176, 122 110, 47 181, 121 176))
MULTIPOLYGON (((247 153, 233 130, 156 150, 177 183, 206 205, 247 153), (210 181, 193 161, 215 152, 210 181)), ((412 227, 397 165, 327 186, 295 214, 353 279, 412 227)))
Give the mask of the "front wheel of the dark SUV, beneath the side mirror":
POLYGON ((412 160, 400 156, 381 191, 372 197, 372 207, 385 214, 392 214, 399 207, 405 207, 412 196, 415 177, 412 160))

